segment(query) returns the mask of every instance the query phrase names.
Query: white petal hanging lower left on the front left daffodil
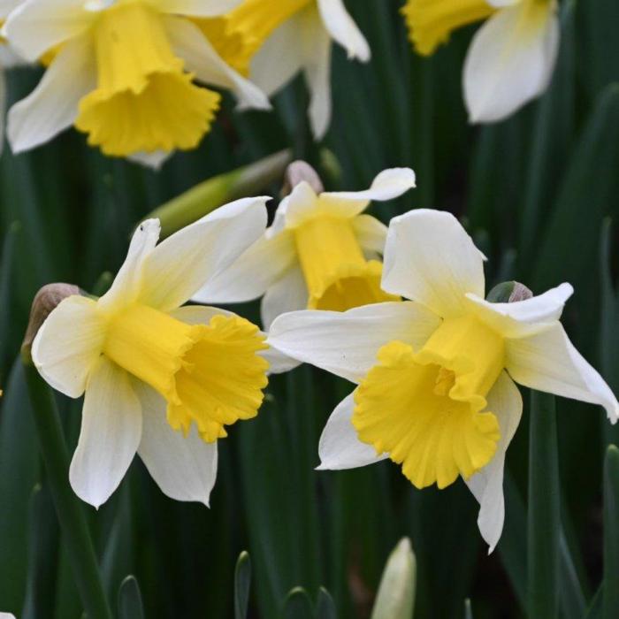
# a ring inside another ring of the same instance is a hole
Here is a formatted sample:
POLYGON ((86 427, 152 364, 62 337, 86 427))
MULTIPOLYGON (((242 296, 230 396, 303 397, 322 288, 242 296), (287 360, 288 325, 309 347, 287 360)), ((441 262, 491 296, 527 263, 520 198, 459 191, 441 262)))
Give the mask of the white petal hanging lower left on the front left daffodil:
POLYGON ((126 371, 101 356, 88 379, 69 480, 98 508, 125 477, 141 438, 141 406, 126 371))

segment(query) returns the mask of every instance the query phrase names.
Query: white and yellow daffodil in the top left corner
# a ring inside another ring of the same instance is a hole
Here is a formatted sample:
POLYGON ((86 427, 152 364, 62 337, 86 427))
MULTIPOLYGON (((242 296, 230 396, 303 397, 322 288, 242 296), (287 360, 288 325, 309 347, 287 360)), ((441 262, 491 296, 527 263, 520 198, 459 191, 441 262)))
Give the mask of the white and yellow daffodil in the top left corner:
POLYGON ((25 0, 4 35, 30 61, 45 57, 41 82, 9 111, 15 152, 74 125, 105 155, 158 164, 193 149, 210 129, 220 95, 270 107, 264 93, 218 56, 192 18, 238 0, 25 0))

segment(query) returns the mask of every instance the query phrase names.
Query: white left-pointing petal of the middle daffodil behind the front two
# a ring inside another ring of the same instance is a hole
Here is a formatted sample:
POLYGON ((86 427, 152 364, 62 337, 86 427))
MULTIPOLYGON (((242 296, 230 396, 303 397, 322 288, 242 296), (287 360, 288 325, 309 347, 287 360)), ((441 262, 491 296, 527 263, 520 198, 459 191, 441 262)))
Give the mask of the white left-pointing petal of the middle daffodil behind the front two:
POLYGON ((264 234, 225 271, 194 294, 200 303, 237 303, 262 296, 293 264, 294 236, 288 231, 264 234))

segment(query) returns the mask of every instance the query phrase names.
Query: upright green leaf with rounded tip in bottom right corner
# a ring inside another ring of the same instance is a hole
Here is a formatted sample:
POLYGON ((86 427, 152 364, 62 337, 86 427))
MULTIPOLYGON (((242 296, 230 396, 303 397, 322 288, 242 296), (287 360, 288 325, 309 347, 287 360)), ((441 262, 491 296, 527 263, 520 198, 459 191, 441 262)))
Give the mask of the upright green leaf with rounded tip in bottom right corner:
POLYGON ((619 449, 608 446, 604 461, 603 619, 619 617, 619 449))

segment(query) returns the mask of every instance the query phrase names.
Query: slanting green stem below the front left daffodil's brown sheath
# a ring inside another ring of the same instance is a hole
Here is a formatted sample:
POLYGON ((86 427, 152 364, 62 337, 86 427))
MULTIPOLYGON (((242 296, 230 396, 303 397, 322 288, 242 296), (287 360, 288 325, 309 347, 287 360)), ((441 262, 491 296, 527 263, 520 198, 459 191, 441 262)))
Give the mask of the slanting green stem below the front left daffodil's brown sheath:
POLYGON ((24 372, 47 480, 73 567, 75 584, 88 619, 111 619, 96 562, 95 546, 84 512, 69 486, 69 454, 54 396, 27 358, 24 359, 24 372))

